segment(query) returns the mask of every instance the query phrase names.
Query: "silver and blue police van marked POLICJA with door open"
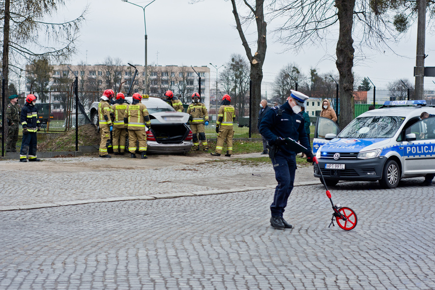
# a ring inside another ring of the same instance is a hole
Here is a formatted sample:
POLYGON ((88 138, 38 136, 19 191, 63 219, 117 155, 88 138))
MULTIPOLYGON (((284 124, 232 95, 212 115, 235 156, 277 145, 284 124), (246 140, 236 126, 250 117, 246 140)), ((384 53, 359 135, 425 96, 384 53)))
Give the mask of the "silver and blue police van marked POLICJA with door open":
MULTIPOLYGON (((334 121, 319 117, 313 153, 325 183, 379 181, 383 188, 395 188, 402 178, 435 173, 435 118, 421 120, 422 112, 435 114, 435 105, 425 100, 387 101, 341 132, 334 121)), ((314 177, 320 178, 313 167, 314 177)))

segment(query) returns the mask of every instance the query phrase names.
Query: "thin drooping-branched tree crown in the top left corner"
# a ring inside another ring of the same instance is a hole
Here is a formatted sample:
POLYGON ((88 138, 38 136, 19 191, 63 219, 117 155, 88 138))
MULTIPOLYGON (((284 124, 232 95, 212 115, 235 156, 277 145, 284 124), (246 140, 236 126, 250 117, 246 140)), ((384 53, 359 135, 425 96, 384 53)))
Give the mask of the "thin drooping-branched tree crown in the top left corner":
POLYGON ((9 79, 9 61, 18 63, 22 59, 32 60, 38 56, 47 59, 66 60, 75 51, 75 41, 82 12, 77 18, 61 23, 44 21, 54 14, 65 0, 11 0, 4 1, 0 15, 4 20, 3 30, 3 76, 9 79), (44 32, 47 43, 43 44, 40 32, 44 32))

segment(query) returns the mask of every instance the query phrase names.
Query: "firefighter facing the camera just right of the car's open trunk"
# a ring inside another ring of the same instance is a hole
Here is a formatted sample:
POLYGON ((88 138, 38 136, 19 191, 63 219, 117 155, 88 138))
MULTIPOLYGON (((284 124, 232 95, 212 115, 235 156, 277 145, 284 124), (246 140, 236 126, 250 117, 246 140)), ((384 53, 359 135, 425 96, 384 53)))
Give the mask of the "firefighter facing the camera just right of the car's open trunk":
POLYGON ((209 145, 207 144, 206 129, 204 125, 209 125, 209 113, 204 104, 199 102, 200 96, 198 93, 193 93, 192 103, 187 108, 187 113, 190 114, 190 130, 193 133, 193 150, 199 151, 199 140, 202 143, 202 149, 204 151, 209 150, 209 145))

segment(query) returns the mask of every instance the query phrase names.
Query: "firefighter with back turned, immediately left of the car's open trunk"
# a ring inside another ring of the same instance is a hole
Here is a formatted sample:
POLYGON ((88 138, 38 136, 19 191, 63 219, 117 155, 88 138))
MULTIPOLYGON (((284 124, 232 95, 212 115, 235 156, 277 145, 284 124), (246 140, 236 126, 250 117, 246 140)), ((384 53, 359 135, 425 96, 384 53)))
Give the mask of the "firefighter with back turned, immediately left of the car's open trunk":
POLYGON ((139 93, 133 94, 133 104, 128 105, 124 123, 128 128, 128 151, 131 158, 136 158, 136 141, 139 141, 139 153, 141 159, 147 159, 147 130, 145 125, 151 129, 150 114, 147 106, 141 103, 142 96, 139 93))

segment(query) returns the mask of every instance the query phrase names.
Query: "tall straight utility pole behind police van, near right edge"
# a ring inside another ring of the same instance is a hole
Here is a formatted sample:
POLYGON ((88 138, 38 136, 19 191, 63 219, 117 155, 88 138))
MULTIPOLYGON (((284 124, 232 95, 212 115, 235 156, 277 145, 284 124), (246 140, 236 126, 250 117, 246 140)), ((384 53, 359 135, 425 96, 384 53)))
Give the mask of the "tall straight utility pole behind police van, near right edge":
POLYGON ((426 31, 426 0, 418 0, 417 4, 417 53, 415 57, 415 100, 424 97, 424 45, 426 31))

